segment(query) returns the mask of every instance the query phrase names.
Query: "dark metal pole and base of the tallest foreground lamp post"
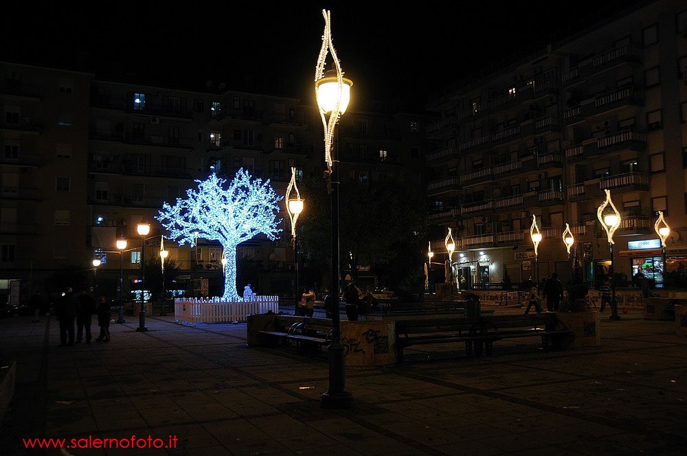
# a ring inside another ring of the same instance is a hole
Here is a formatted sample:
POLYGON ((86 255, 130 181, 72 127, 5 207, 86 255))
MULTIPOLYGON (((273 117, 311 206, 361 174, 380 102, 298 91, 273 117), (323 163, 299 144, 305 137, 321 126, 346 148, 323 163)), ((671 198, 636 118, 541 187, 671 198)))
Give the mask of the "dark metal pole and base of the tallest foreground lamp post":
MULTIPOLYGON (((334 150, 332 151, 334 152, 334 150)), ((341 345, 341 310, 339 310, 339 162, 333 157, 332 173, 329 175, 332 205, 332 343, 329 352, 329 389, 322 394, 324 409, 350 409, 353 397, 346 391, 346 370, 343 365, 341 345)))

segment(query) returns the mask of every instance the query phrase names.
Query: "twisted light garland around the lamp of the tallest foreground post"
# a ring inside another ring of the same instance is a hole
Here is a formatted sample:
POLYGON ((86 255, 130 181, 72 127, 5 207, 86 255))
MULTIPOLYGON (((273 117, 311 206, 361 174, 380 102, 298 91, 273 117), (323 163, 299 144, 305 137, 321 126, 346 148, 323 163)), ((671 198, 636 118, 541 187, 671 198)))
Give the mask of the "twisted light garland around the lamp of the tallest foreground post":
MULTIPOLYGON (((332 40, 331 12, 328 10, 322 10, 322 15, 324 16, 324 34, 322 35, 322 47, 319 49, 317 66, 315 67, 315 82, 324 78, 324 65, 328 52, 331 52, 334 65, 337 69, 337 85, 339 89, 339 96, 337 97, 335 109, 333 109, 328 120, 326 118, 326 113, 322 109, 322 106, 319 106, 318 104, 319 117, 322 117, 322 126, 324 128, 324 161, 327 163, 327 172, 331 174, 333 164, 332 147, 334 142, 334 130, 337 126, 337 122, 339 122, 341 93, 343 92, 343 71, 341 71, 341 62, 339 62, 336 49, 334 49, 334 42, 332 40)), ((317 99, 317 84, 315 84, 315 99, 317 99)))

